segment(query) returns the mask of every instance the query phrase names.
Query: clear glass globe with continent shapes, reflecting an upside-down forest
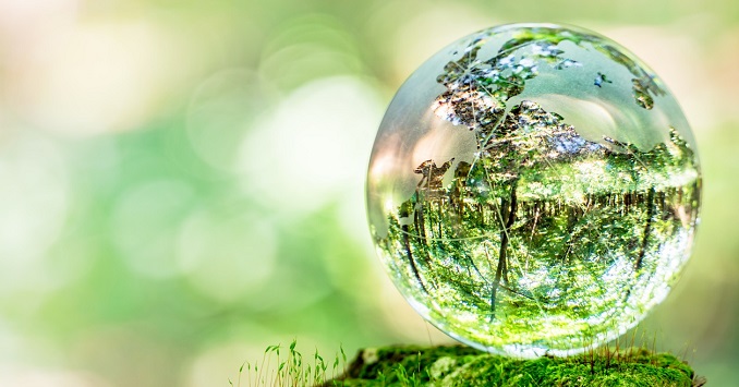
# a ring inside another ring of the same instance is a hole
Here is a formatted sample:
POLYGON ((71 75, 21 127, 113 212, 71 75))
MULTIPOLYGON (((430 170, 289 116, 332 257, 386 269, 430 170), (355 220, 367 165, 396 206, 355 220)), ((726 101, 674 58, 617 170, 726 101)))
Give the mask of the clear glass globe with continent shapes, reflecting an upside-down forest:
POLYGON ((380 259, 424 318, 535 358, 615 339, 665 299, 690 256, 701 172, 678 102, 633 53, 512 24, 405 81, 366 190, 380 259))

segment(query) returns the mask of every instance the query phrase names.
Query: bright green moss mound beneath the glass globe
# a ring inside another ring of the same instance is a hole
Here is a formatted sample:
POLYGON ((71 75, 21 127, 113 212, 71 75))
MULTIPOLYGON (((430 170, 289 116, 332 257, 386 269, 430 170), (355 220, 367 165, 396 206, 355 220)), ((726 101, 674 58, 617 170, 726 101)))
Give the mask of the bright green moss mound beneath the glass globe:
POLYGON ((469 347, 384 347, 361 350, 326 386, 702 386, 669 353, 599 349, 571 358, 520 360, 469 347))

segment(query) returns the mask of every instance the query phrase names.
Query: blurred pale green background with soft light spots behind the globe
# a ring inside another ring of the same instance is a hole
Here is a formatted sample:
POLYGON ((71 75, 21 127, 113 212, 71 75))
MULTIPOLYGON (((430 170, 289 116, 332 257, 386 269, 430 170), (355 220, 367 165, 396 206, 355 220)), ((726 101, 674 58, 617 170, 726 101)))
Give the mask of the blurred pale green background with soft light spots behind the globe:
POLYGON ((734 0, 0 0, 0 386, 227 386, 293 338, 448 340, 374 256, 366 164, 421 62, 518 21, 614 38, 686 109, 702 225, 640 331, 736 386, 734 0))

